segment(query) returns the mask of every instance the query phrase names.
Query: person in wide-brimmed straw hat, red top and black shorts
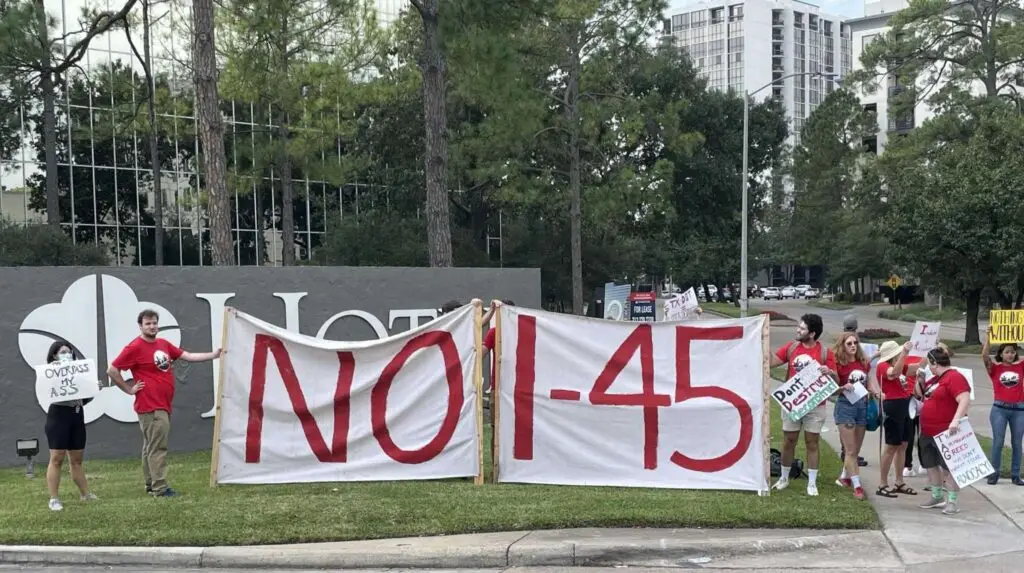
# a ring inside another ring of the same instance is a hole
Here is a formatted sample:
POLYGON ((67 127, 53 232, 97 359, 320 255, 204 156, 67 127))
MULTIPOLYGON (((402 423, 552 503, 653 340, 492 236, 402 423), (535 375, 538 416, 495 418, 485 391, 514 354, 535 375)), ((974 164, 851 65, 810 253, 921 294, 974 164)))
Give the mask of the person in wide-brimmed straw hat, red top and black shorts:
MULTIPOLYGON (((886 448, 882 453, 882 480, 876 493, 882 497, 896 497, 897 493, 916 495, 918 492, 903 481, 903 473, 896 469, 896 485, 889 487, 889 471, 893 460, 903 460, 906 457, 907 444, 911 440, 910 398, 911 385, 907 380, 913 380, 918 374, 919 364, 907 361, 913 345, 909 342, 902 347, 888 341, 879 349, 879 365, 876 378, 882 387, 882 409, 885 413, 883 431, 886 448)), ((920 359, 919 359, 920 363, 920 359)))

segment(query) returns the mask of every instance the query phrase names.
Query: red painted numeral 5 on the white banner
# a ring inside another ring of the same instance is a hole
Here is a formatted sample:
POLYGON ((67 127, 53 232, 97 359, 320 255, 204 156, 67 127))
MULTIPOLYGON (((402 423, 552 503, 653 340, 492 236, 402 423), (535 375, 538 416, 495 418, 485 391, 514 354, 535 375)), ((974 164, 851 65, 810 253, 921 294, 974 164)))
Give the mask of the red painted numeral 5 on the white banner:
POLYGON ((739 414, 739 438, 736 445, 724 454, 710 459, 697 459, 676 451, 672 462, 695 472, 721 472, 739 461, 754 439, 754 414, 751 405, 739 395, 721 386, 693 386, 690 380, 690 343, 696 340, 729 341, 743 338, 742 326, 697 328, 676 326, 676 403, 694 398, 715 398, 736 408, 739 414))

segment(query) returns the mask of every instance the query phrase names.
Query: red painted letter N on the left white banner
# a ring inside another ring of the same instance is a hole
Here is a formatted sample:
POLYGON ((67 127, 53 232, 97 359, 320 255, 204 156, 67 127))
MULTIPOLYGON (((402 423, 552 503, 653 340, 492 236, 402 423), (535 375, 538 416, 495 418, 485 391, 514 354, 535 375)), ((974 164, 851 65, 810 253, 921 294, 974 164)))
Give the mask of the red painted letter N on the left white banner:
POLYGON ((256 335, 253 351, 253 373, 249 390, 249 425, 246 428, 246 464, 258 464, 263 446, 263 395, 266 390, 267 355, 273 354, 281 380, 285 383, 288 399, 298 416, 306 442, 316 459, 324 462, 343 464, 347 457, 349 393, 355 359, 351 352, 338 353, 338 383, 334 390, 334 435, 328 447, 316 420, 309 412, 302 385, 295 374, 295 367, 288 349, 281 340, 267 335, 256 335))

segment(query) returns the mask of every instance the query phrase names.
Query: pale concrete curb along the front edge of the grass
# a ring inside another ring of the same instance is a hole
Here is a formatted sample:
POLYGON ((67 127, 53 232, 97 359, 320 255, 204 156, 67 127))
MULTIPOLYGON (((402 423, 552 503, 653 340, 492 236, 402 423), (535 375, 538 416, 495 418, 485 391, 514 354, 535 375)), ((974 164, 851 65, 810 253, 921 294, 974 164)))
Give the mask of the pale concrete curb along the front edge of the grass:
POLYGON ((880 531, 763 531, 715 538, 715 530, 653 530, 624 542, 600 530, 487 533, 224 547, 0 546, 0 563, 76 566, 163 566, 191 569, 481 569, 504 567, 689 567, 748 558, 887 543, 880 531), (460 542, 461 541, 461 542, 460 542))

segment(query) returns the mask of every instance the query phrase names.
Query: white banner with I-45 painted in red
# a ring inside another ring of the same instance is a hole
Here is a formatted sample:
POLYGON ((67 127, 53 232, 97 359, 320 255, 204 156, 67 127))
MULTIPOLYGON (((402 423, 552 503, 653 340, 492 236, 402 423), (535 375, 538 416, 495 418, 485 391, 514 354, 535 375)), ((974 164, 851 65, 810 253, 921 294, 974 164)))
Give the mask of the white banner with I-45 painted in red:
POLYGON ((499 481, 767 489, 766 316, 630 324, 500 312, 499 481))

